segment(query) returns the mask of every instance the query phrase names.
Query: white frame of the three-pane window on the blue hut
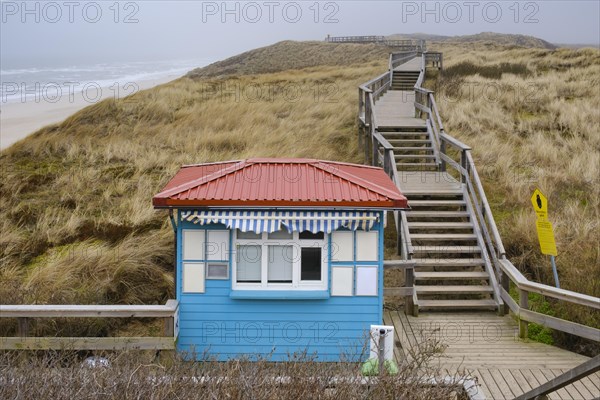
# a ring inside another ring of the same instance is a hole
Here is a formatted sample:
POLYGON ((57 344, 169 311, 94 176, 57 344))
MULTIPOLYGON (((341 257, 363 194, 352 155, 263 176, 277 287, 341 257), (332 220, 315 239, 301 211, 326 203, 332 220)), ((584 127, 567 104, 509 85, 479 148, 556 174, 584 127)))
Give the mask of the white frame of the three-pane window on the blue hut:
POLYGON ((233 232, 233 255, 231 268, 231 287, 233 290, 327 290, 328 285, 328 265, 329 255, 327 254, 327 243, 329 236, 323 234, 323 239, 300 239, 299 232, 292 232, 292 239, 269 239, 268 233, 263 232, 261 239, 238 239, 238 230, 233 232), (259 245, 262 247, 261 258, 261 282, 244 283, 237 281, 237 254, 240 245, 259 245), (269 283, 268 282, 268 257, 269 245, 292 246, 292 283, 269 283), (300 279, 301 259, 300 252, 302 247, 317 247, 321 249, 321 280, 320 281, 302 281, 300 279))

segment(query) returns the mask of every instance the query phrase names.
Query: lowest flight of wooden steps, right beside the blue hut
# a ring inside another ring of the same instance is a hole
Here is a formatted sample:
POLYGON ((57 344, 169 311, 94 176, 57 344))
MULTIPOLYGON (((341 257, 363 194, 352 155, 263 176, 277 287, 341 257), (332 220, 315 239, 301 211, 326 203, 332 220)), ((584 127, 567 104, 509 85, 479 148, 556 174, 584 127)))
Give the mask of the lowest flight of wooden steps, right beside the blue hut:
POLYGON ((485 248, 461 190, 408 195, 419 310, 496 309, 485 248))

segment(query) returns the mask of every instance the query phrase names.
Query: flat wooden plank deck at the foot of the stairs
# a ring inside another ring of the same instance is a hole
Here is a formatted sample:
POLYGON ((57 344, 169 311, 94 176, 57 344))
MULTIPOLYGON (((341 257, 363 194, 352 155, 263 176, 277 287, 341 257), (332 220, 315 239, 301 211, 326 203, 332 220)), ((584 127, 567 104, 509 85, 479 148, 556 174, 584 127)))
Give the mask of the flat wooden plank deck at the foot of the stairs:
MULTIPOLYGON (((396 358, 410 357, 425 341, 438 341, 445 350, 433 361, 442 373, 464 370, 476 379, 486 399, 513 399, 583 363, 588 358, 558 347, 519 339, 510 316, 494 313, 429 313, 419 317, 385 311, 384 323, 394 326, 396 358)), ((557 400, 600 397, 596 373, 548 396, 557 400)))

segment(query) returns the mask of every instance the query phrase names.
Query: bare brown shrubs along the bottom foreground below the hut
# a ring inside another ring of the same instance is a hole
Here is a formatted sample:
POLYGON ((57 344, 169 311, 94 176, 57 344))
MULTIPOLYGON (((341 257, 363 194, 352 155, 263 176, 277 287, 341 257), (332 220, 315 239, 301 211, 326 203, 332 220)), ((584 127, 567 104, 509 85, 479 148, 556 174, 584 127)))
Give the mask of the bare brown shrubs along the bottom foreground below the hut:
POLYGON ((397 375, 363 378, 360 364, 314 362, 290 355, 289 362, 232 360, 186 362, 144 353, 96 356, 94 367, 72 352, 0 355, 0 397, 73 399, 411 399, 464 400, 464 373, 441 371, 424 345, 397 375), (98 362, 103 356, 103 363, 98 362), (162 360, 162 362, 161 362, 162 360), (444 380, 445 379, 445 380, 444 380), (432 384, 432 382, 459 382, 432 384))

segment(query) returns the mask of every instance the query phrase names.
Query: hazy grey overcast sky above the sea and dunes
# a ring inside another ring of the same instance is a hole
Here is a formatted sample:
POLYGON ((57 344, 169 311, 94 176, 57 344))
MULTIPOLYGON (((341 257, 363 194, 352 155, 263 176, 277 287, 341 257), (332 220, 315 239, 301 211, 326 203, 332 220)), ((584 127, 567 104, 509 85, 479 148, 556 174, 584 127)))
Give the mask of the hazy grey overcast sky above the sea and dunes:
POLYGON ((221 59, 280 40, 483 31, 600 41, 600 1, 1 1, 2 68, 221 59))

